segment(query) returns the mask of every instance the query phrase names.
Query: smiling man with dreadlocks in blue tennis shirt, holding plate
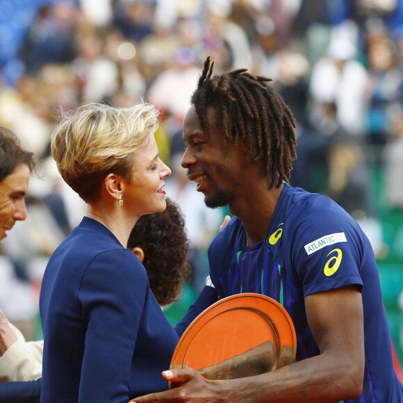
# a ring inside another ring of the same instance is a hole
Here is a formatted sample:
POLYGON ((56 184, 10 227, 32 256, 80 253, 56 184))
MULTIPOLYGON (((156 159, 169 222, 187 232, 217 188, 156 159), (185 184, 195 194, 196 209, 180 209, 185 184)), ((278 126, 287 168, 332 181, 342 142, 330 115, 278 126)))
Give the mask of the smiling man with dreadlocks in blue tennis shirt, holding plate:
POLYGON ((235 215, 208 249, 220 297, 262 293, 297 333, 297 362, 231 380, 163 372, 179 388, 148 402, 403 402, 393 370, 375 257, 340 206, 286 182, 295 122, 268 79, 213 75, 209 58, 183 122, 182 165, 208 207, 235 215))

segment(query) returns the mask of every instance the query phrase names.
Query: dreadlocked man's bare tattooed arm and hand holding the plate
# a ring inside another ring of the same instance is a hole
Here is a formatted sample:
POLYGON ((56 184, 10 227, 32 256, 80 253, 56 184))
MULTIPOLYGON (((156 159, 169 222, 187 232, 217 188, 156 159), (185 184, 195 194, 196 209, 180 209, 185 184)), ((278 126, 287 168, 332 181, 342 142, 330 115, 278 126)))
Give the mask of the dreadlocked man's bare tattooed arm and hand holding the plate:
POLYGON ((309 327, 320 355, 263 375, 215 381, 198 372, 165 373, 178 388, 132 402, 335 402, 357 397, 364 372, 363 306, 356 286, 309 295, 309 327))

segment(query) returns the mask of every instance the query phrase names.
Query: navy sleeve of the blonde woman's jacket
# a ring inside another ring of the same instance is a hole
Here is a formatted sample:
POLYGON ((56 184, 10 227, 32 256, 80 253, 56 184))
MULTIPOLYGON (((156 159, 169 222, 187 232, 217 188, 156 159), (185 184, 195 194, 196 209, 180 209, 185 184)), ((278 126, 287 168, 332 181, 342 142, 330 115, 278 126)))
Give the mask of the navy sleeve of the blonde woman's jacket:
POLYGON ((148 278, 128 250, 103 252, 85 270, 79 290, 87 324, 79 402, 127 402, 131 361, 148 278))

